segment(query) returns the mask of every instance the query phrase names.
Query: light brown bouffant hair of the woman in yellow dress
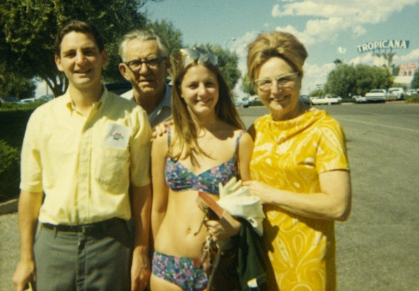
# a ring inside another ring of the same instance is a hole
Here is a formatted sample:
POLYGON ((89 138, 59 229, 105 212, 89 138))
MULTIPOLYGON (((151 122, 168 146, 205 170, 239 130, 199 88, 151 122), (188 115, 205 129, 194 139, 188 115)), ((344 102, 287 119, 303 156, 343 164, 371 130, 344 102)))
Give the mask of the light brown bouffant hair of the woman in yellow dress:
POLYGON ((284 59, 303 76, 302 66, 308 57, 307 50, 291 33, 272 31, 260 33, 256 40, 247 46, 247 74, 251 81, 258 76, 260 66, 272 57, 284 59))

